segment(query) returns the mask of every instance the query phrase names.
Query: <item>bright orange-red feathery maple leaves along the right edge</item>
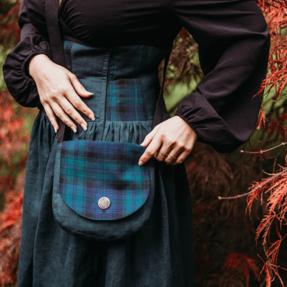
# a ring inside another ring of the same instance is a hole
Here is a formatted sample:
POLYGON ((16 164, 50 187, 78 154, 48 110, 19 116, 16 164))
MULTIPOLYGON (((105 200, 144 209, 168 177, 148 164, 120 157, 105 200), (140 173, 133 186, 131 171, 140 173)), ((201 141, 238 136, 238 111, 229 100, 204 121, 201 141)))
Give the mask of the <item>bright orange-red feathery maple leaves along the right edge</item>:
MULTIPOLYGON (((270 101, 270 103, 274 103, 275 101, 279 101, 280 103, 280 96, 287 83, 287 1, 259 0, 257 3, 264 14, 266 14, 266 21, 268 23, 271 35, 270 57, 268 63, 268 69, 270 72, 268 73, 266 79, 262 82, 261 89, 259 90, 258 94, 262 95, 265 89, 268 95, 270 90, 273 88, 275 90, 275 97, 273 101, 270 101)), ((281 113, 279 117, 278 114, 275 115, 275 112, 274 115, 270 115, 270 123, 268 125, 268 131, 270 132, 268 132, 267 139, 270 139, 273 137, 273 135, 277 134, 281 138, 284 137, 286 140, 286 117, 286 113, 281 113)), ((265 128, 265 121, 266 116, 262 107, 259 119, 257 121, 257 127, 259 128, 264 126, 265 128)), ((281 152, 284 150, 286 150, 285 146, 281 152)), ((261 273, 263 271, 266 273, 266 286, 271 286, 271 282, 275 279, 275 277, 277 277, 279 281, 281 281, 282 286, 284 286, 284 283, 279 276, 278 269, 284 268, 277 265, 277 259, 281 242, 286 237, 286 235, 283 237, 281 236, 279 229, 282 230, 283 221, 287 223, 285 216, 287 212, 287 168, 286 166, 279 166, 279 171, 275 172, 274 164, 273 173, 266 174, 269 176, 268 178, 261 179, 261 181, 250 186, 249 190, 251 193, 248 196, 247 208, 249 209, 250 213, 251 206, 255 202, 255 199, 257 199, 258 196, 261 196, 262 201, 263 195, 268 194, 266 215, 264 219, 261 220, 261 224, 259 224, 257 228, 255 239, 257 242, 260 236, 263 237, 266 262, 264 262, 261 273), (272 230, 274 224, 276 224, 277 236, 279 239, 270 244, 270 230, 272 230), (270 246, 265 248, 267 244, 270 244, 270 246)))

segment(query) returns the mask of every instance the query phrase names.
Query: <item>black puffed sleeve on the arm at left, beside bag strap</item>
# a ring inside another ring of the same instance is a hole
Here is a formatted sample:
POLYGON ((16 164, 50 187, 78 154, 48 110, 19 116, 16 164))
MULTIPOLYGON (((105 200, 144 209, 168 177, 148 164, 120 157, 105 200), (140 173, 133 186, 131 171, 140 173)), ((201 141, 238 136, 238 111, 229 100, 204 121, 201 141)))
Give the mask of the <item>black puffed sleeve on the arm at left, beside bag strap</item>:
POLYGON ((41 108, 36 83, 28 72, 28 63, 38 54, 52 59, 52 52, 47 38, 30 23, 26 3, 27 0, 22 1, 19 11, 21 41, 8 53, 3 65, 3 77, 10 94, 21 106, 41 108))

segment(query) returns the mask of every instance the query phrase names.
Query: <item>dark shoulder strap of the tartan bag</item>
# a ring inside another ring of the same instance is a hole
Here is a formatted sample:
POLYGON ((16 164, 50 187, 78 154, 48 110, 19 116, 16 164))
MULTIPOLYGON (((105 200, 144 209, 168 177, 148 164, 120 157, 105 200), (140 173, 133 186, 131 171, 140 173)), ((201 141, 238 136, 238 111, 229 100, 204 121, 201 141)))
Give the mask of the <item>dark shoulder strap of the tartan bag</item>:
MULTIPOLYGON (((53 61, 60 66, 66 67, 65 55, 63 51, 63 44, 61 41, 61 33, 59 29, 59 0, 45 0, 45 14, 48 36, 52 50, 53 61)), ((166 68, 170 58, 171 50, 166 55, 164 60, 164 76, 161 84, 161 90, 157 99, 157 106, 155 108, 155 118, 153 121, 152 129, 163 121, 164 117, 164 80, 166 79, 166 68)), ((63 135, 65 133, 66 124, 60 119, 58 120, 59 130, 57 132, 57 142, 63 142, 63 135)))

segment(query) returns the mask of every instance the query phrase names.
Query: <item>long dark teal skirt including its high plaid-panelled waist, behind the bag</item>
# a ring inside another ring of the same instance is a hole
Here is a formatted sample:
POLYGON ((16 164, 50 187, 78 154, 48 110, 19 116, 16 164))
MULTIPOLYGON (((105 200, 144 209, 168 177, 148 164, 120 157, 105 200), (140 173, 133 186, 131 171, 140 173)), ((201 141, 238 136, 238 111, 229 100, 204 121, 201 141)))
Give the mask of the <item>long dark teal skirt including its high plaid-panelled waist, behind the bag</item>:
MULTIPOLYGON (((96 121, 66 139, 141 143, 152 130, 158 66, 166 50, 97 49, 63 41, 68 69, 94 96, 96 121)), ((52 214, 57 135, 44 110, 34 121, 26 169, 17 287, 192 287, 192 207, 184 164, 156 161, 155 200, 139 232, 116 242, 69 235, 52 214)))

